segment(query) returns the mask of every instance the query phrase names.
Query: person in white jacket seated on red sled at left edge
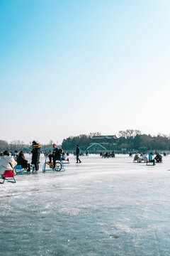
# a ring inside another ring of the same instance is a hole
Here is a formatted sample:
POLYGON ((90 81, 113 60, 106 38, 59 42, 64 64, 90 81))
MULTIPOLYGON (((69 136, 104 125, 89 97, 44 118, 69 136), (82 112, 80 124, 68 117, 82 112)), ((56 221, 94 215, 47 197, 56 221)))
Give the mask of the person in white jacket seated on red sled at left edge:
POLYGON ((10 156, 8 151, 4 151, 0 159, 0 174, 3 175, 6 170, 12 170, 17 165, 17 162, 10 156))

